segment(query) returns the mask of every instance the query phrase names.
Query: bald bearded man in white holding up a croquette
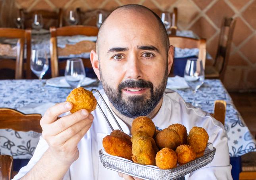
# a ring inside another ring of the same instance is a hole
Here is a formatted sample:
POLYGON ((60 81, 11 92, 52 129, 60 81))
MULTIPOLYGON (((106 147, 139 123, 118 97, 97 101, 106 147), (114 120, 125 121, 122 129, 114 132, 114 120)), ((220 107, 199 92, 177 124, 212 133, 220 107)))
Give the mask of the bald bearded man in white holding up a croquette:
MULTIPOLYGON (((91 51, 90 59, 104 87, 100 92, 125 133, 130 134, 137 116, 152 118, 160 129, 173 123, 185 125, 188 131, 193 126, 204 127, 216 155, 212 163, 185 178, 232 179, 223 125, 185 103, 177 93, 164 93, 173 47, 157 15, 139 5, 117 8, 100 28, 96 52, 91 51)), ((96 99, 114 129, 118 129, 102 100, 97 95, 96 99)), ((40 121, 43 131, 35 153, 14 179, 137 179, 117 174, 100 163, 102 138, 111 129, 98 108, 92 114, 80 110, 56 120, 71 106, 64 102, 46 111, 40 121)))

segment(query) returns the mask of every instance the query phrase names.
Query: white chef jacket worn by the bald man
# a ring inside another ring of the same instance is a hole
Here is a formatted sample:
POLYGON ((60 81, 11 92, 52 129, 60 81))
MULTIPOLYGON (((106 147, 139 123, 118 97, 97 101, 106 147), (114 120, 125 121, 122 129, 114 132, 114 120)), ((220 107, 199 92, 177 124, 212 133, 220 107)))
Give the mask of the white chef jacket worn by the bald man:
MULTIPOLYGON (((104 90, 102 89, 100 93, 109 105, 109 101, 104 90)), ((98 94, 95 94, 94 96, 108 117, 112 127, 114 129, 118 129, 118 126, 104 106, 98 94)), ((79 158, 72 163, 64 176, 64 180, 122 180, 123 178, 120 178, 117 172, 106 169, 100 162, 98 151, 103 148, 102 138, 106 135, 110 135, 112 130, 108 126, 108 123, 102 116, 98 107, 92 112, 92 114, 94 116, 92 126, 78 144, 79 158)), ((130 131, 127 125, 115 114, 114 116, 123 131, 129 135, 130 131)), ((186 103, 178 93, 172 91, 171 93, 164 93, 162 106, 152 121, 160 129, 164 129, 174 123, 183 124, 187 128, 188 132, 194 126, 206 129, 209 135, 209 142, 212 142, 216 148, 214 159, 208 165, 187 174, 185 176, 186 180, 232 179, 231 165, 229 164, 227 134, 223 125, 208 113, 200 110, 199 108, 194 108, 191 104, 186 103)), ((27 166, 21 168, 13 180, 23 177, 28 171, 30 171, 47 149, 47 142, 42 138, 42 136, 40 136, 40 140, 33 157, 27 166)))

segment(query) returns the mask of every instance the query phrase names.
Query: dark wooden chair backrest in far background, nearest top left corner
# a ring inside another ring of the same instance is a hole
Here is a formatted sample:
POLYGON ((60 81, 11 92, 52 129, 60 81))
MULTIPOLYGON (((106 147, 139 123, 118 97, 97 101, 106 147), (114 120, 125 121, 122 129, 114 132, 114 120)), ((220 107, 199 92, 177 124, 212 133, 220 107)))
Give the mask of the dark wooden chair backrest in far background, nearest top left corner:
POLYGON ((26 12, 24 9, 19 9, 19 13, 21 17, 24 18, 23 25, 21 25, 24 28, 31 28, 34 14, 41 14, 43 19, 56 20, 58 27, 62 27, 63 25, 63 11, 61 8, 58 9, 58 12, 47 11, 47 10, 36 10, 36 11, 26 12))

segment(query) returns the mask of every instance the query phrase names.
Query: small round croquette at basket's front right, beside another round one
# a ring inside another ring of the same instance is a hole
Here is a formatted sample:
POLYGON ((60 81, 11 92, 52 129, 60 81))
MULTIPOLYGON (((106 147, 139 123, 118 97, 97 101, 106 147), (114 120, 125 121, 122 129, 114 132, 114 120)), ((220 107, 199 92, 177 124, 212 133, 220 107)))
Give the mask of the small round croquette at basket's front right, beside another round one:
POLYGON ((175 153, 177 154, 178 163, 180 165, 196 159, 196 153, 191 148, 191 146, 186 144, 178 146, 175 153))

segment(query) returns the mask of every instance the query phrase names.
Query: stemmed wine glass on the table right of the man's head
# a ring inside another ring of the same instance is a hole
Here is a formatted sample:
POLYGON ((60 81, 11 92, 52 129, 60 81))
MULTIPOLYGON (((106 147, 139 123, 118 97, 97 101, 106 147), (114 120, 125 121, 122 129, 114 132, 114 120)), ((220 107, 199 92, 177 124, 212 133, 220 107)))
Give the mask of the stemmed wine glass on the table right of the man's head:
POLYGON ((196 58, 187 60, 184 79, 193 91, 192 105, 200 107, 200 105, 195 102, 195 95, 198 88, 204 83, 204 67, 202 60, 196 58))

